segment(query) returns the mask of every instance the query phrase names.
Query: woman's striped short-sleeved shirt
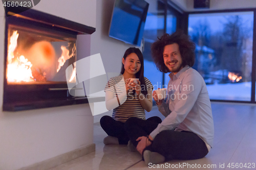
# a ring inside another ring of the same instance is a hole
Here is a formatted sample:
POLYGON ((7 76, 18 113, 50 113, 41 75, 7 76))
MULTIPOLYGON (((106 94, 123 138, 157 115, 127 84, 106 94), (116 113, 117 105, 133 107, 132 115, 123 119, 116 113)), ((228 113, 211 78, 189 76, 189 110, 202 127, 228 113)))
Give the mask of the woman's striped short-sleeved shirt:
MULTIPOLYGON (((150 80, 145 77, 144 80, 146 89, 154 88, 150 80)), ((141 89, 143 89, 143 87, 141 87, 141 89)), ((113 92, 114 98, 117 98, 117 95, 120 95, 124 90, 125 83, 123 76, 110 78, 104 89, 104 91, 113 92)), ((146 119, 145 111, 140 104, 138 95, 136 95, 136 93, 133 94, 132 90, 129 90, 126 101, 121 105, 119 104, 119 106, 113 110, 112 117, 120 122, 125 122, 129 117, 146 119)))

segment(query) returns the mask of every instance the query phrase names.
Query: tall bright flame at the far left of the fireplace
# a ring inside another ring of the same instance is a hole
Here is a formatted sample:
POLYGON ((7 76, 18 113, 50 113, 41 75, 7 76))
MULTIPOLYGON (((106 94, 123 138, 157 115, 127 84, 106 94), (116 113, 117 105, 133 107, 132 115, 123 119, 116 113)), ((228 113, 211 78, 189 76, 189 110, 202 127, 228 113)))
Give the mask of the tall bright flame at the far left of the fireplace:
POLYGON ((7 81, 8 82, 32 82, 35 81, 32 76, 31 62, 24 56, 19 56, 14 59, 14 50, 17 47, 18 33, 14 31, 10 37, 8 46, 8 66, 7 66, 7 81), (14 60, 14 61, 13 61, 14 60))

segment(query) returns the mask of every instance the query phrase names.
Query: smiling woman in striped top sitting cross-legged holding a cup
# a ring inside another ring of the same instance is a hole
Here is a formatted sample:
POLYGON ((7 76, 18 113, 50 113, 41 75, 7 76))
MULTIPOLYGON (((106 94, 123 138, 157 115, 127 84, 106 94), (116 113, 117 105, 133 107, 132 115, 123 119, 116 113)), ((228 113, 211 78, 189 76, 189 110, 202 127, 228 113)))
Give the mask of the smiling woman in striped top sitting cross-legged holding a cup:
MULTIPOLYGON (((145 120, 144 110, 151 111, 153 86, 143 72, 143 55, 139 48, 127 49, 122 58, 121 75, 111 78, 104 90, 106 108, 114 109, 112 117, 103 116, 100 119, 102 129, 109 135, 104 138, 104 144, 127 144, 129 138, 124 130, 126 120, 130 117, 145 120)), ((161 123, 159 117, 148 120, 161 123)))

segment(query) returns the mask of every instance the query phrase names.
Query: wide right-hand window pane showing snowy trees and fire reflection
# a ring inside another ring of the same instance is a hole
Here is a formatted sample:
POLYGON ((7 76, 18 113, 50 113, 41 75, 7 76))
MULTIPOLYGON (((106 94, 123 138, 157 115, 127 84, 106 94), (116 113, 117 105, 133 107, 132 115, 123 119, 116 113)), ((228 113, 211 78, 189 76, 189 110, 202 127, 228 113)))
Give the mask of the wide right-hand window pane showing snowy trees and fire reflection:
POLYGON ((188 34, 210 99, 251 101, 253 12, 189 14, 188 34))

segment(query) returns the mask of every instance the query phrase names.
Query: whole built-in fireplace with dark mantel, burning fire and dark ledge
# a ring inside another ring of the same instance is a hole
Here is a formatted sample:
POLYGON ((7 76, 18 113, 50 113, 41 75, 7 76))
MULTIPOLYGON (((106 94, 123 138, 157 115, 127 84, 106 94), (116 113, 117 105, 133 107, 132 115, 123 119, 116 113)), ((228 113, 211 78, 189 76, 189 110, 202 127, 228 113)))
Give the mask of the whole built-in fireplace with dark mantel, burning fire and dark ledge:
POLYGON ((88 103, 70 95, 67 80, 76 84, 76 36, 95 28, 33 9, 6 10, 3 110, 88 103))

